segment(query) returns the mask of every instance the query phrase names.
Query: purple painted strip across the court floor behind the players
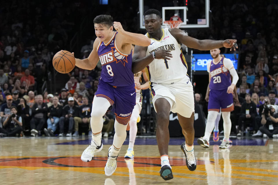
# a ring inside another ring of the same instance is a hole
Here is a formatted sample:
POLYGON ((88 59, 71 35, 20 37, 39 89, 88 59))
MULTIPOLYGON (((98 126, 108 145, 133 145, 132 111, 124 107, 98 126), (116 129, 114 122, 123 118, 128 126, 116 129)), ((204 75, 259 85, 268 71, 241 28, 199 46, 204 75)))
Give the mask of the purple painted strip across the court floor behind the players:
MULTIPOLYGON (((241 145, 241 146, 265 146, 267 140, 263 140, 263 138, 241 138, 241 139, 233 139, 233 145, 241 145)), ((181 145, 184 142, 184 138, 170 138, 169 145, 181 145)), ((89 145, 91 143, 91 139, 57 143, 56 145, 89 145)), ((111 145, 113 143, 113 138, 103 138, 102 143, 104 145, 111 145)), ((124 145, 128 145, 129 140, 128 137, 124 142, 124 145)), ((220 145, 221 141, 214 142, 212 139, 210 140, 210 145, 220 145)), ((157 145, 156 138, 136 138, 135 145, 157 145)), ((198 145, 197 138, 194 139, 194 145, 198 145)))

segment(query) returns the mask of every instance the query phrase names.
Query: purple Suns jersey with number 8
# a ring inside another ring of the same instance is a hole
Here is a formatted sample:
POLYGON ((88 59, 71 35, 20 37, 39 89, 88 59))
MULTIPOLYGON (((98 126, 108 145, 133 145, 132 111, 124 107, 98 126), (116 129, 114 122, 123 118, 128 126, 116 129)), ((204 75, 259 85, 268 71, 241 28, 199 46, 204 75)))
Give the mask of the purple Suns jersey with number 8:
POLYGON ((98 56, 102 66, 100 79, 103 82, 115 87, 124 87, 134 84, 133 73, 131 71, 132 51, 124 54, 116 46, 116 34, 107 44, 100 42, 98 45, 98 56))

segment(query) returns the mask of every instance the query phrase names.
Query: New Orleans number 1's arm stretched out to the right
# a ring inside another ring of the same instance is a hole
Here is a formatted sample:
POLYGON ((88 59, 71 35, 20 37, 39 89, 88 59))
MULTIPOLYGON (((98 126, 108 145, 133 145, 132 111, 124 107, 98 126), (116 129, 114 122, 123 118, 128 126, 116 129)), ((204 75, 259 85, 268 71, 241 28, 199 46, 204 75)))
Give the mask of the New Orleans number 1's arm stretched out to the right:
POLYGON ((226 47, 230 48, 230 51, 235 50, 237 47, 237 40, 198 40, 196 38, 187 36, 182 30, 178 28, 170 29, 170 33, 176 38, 176 40, 187 47, 199 50, 211 50, 215 48, 226 47))

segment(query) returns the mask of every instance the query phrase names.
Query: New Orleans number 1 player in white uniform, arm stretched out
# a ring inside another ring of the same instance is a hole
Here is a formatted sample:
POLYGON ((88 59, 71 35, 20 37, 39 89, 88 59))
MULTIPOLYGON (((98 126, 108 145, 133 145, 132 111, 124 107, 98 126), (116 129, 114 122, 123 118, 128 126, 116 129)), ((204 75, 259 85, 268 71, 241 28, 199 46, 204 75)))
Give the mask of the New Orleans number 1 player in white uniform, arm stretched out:
POLYGON ((132 71, 137 73, 145 66, 150 79, 153 105, 157 112, 156 140, 161 158, 160 176, 164 180, 173 178, 168 157, 169 115, 178 114, 185 142, 181 149, 189 170, 196 169, 194 155, 194 95, 187 73, 187 64, 179 43, 199 50, 219 47, 235 49, 236 40, 197 40, 182 30, 161 28, 162 18, 158 10, 150 9, 144 14, 146 36, 151 38, 148 47, 135 46, 132 71))

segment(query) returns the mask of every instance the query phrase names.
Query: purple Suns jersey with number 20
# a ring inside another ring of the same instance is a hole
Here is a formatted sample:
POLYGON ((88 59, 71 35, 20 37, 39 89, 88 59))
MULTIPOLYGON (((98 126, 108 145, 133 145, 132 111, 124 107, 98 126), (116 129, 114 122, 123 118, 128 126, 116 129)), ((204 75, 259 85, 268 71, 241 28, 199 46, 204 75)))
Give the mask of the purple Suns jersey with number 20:
POLYGON ((212 90, 224 90, 231 85, 231 74, 229 70, 233 69, 233 63, 228 58, 221 58, 215 64, 213 60, 208 62, 207 71, 211 74, 211 83, 209 88, 212 90))

